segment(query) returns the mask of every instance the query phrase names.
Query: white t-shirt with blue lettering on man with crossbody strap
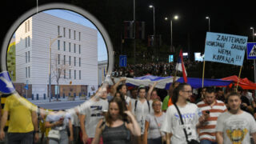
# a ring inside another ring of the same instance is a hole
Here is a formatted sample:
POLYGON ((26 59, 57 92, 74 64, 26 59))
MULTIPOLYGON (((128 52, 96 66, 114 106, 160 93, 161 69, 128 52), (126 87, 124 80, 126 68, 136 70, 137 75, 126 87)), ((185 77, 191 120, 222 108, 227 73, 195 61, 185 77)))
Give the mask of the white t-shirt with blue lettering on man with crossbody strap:
POLYGON ((196 125, 198 124, 198 119, 202 115, 202 112, 198 109, 198 106, 190 102, 188 102, 186 106, 178 106, 178 109, 182 114, 184 126, 182 125, 177 109, 172 105, 169 106, 166 111, 166 118, 162 123, 161 130, 173 134, 170 138, 171 143, 186 144, 186 136, 183 127, 186 128, 189 141, 191 139, 198 140, 196 125))

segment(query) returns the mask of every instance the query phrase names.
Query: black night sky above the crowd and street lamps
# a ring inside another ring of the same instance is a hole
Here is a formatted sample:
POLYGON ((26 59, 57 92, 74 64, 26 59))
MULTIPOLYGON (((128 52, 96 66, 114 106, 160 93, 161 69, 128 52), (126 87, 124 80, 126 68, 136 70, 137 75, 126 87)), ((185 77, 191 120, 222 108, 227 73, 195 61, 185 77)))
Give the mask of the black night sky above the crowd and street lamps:
MULTIPOLYGON (((36 6, 36 2, 36 0, 2 2, 0 35, 2 40, 12 23, 21 14, 36 6)), ((115 19, 116 22, 122 23, 124 20, 133 19, 133 0, 38 0, 39 6, 50 2, 72 3, 82 7, 94 14, 106 30, 114 29, 108 19, 114 19, 117 13, 123 14, 123 17, 122 15, 120 17, 119 14, 115 19)), ((162 42, 168 46, 170 46, 170 21, 166 22, 164 18, 170 14, 178 14, 178 21, 173 21, 173 45, 182 46, 184 51, 190 47, 190 53, 204 51, 204 42, 208 31, 206 16, 210 16, 211 32, 248 36, 248 42, 251 42, 252 30, 250 30, 250 26, 254 26, 256 31, 256 10, 253 1, 225 1, 224 3, 223 1, 137 0, 136 19, 146 22, 146 35, 153 34, 153 10, 149 8, 150 4, 155 6, 156 34, 162 34, 162 42)))

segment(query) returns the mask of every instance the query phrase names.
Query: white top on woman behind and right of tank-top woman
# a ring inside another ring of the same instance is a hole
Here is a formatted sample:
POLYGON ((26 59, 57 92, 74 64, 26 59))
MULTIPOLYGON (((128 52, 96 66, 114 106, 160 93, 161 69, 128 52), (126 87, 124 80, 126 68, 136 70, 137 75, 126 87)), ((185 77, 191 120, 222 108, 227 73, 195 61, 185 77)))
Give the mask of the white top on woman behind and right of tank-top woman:
POLYGON ((142 134, 144 134, 146 115, 147 114, 154 114, 154 110, 152 108, 152 101, 151 100, 149 101, 150 110, 149 110, 149 105, 146 102, 146 99, 143 103, 139 99, 137 100, 136 110, 134 110, 135 109, 135 103, 136 103, 136 100, 134 102, 134 105, 131 106, 131 111, 135 115, 135 118, 136 118, 139 126, 141 127, 142 134))

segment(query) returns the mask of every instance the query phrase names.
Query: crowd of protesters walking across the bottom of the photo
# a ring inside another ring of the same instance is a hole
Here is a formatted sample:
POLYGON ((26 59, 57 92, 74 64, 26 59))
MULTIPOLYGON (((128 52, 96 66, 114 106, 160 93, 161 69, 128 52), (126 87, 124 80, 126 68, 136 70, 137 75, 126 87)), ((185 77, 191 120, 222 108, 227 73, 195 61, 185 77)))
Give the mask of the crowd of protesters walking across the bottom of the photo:
POLYGON ((40 131, 50 144, 256 144, 256 98, 251 90, 193 89, 174 80, 166 93, 159 93, 158 82, 127 87, 126 78, 112 81, 112 86, 102 83, 96 94, 74 108, 75 113, 29 109, 18 102, 25 98, 8 97, 0 139, 5 138, 3 128, 10 114, 9 143, 38 142, 40 131), (21 114, 15 112, 20 110, 21 114))

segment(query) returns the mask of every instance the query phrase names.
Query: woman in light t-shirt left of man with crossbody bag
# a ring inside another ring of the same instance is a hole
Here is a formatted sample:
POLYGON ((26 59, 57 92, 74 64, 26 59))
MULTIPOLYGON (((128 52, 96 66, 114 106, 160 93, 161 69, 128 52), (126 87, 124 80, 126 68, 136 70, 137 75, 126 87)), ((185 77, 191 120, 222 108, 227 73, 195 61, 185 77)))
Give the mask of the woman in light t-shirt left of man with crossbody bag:
POLYGON ((162 143, 166 140, 165 134, 161 132, 162 122, 166 116, 161 110, 161 101, 154 99, 152 103, 154 114, 148 114, 145 122, 144 144, 162 143))

